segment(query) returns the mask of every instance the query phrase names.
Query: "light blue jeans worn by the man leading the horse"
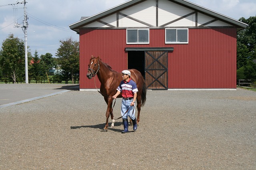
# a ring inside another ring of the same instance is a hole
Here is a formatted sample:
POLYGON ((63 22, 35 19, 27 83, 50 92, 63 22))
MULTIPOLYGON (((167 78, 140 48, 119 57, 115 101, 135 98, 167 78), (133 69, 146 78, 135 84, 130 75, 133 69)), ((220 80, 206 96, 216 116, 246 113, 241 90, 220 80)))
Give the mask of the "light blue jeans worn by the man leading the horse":
POLYGON ((121 115, 122 115, 122 119, 127 119, 128 116, 134 120, 135 119, 135 103, 134 103, 134 107, 131 106, 132 100, 124 100, 122 99, 122 105, 121 105, 121 115), (131 107, 130 107, 131 106, 131 107), (127 109, 130 107, 130 109, 128 110, 128 112, 126 114, 124 114, 127 109), (132 114, 134 108, 134 114, 132 114))

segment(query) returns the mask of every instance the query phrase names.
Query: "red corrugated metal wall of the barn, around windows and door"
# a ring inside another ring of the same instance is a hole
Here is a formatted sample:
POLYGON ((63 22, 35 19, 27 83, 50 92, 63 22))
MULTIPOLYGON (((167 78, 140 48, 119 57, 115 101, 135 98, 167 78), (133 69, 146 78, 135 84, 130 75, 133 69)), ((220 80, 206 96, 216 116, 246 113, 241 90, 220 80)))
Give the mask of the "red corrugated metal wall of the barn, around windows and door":
MULTIPOLYGON (((165 44, 164 29, 150 29, 150 44, 126 44, 125 29, 80 30, 80 89, 95 89, 86 77, 91 55, 121 72, 125 47, 174 47, 168 53, 168 88, 236 88, 236 29, 189 29, 188 44, 165 44)), ((96 78, 96 87, 100 83, 96 78)))

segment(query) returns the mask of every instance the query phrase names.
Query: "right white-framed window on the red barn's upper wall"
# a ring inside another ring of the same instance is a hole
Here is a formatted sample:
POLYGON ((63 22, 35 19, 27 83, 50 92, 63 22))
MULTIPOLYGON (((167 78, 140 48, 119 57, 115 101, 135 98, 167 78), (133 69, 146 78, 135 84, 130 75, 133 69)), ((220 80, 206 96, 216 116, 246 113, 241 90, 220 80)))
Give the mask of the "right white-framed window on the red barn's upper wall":
POLYGON ((165 29, 165 43, 188 43, 188 29, 165 29))

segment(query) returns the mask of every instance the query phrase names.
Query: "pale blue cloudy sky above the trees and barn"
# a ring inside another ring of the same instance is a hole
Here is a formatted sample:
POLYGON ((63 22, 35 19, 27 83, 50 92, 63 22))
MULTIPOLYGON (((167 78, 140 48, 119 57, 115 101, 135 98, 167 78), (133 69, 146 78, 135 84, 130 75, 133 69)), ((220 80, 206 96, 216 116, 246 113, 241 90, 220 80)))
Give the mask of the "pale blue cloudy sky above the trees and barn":
MULTIPOLYGON (((82 16, 93 16, 129 0, 26 0, 28 14, 27 44, 34 56, 51 53, 56 57, 60 40, 72 38, 79 41, 79 35, 69 25, 78 22, 82 16)), ((222 15, 238 20, 256 16, 256 0, 188 0, 222 15)), ((0 47, 10 34, 24 40, 22 28, 14 28, 14 21, 22 25, 24 0, 0 0, 0 47), (16 4, 8 5, 8 4, 16 4), (14 10, 14 8, 16 10, 14 10)))

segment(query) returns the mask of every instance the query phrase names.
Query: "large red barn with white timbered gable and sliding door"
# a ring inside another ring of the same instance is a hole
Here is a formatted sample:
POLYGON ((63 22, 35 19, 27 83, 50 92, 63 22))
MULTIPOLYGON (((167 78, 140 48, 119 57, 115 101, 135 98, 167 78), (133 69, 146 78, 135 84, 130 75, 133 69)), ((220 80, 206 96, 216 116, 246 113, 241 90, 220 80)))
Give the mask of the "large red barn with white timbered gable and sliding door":
POLYGON ((80 35, 80 90, 95 89, 91 55, 138 69, 147 89, 236 89, 236 32, 246 26, 186 0, 130 0, 82 17, 69 26, 80 35))

